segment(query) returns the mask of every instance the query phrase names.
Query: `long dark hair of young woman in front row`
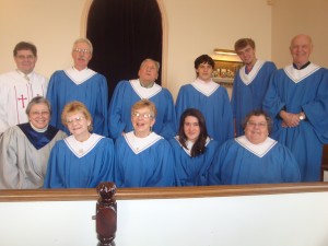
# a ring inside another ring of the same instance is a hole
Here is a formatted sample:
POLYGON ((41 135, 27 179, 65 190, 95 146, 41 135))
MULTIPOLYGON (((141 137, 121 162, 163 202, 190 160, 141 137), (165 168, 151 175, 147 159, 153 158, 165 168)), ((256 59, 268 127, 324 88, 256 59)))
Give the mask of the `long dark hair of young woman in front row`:
POLYGON ((178 130, 179 142, 184 148, 187 149, 186 142, 188 139, 184 131, 184 125, 185 125, 185 119, 188 116, 194 116, 198 119, 199 129, 200 129, 199 137, 196 140, 196 142, 194 143, 192 149, 190 151, 191 156, 195 157, 197 155, 204 153, 207 138, 209 136, 208 136, 206 120, 204 120, 202 114, 200 113, 200 110, 198 110, 196 108, 187 108, 180 117, 180 124, 179 124, 179 130, 178 130))

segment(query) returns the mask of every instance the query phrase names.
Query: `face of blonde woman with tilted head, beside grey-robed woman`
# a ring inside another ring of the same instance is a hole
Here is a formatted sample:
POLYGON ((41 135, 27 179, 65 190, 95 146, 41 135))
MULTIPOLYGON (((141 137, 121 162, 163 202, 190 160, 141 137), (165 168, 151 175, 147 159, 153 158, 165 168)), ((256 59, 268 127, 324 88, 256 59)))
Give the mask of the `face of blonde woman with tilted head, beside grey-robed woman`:
POLYGON ((75 139, 84 139, 89 136, 87 127, 91 124, 90 119, 86 119, 82 112, 72 113, 66 117, 67 127, 69 131, 75 137, 75 139))

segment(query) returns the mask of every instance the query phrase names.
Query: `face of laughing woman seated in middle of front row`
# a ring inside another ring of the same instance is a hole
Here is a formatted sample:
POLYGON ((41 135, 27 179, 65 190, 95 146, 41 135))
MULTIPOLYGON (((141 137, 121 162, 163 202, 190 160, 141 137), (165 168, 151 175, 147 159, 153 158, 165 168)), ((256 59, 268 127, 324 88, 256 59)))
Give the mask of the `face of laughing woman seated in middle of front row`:
POLYGON ((155 119, 151 115, 153 113, 148 107, 132 112, 131 121, 137 137, 144 138, 151 133, 150 129, 155 124, 155 119))

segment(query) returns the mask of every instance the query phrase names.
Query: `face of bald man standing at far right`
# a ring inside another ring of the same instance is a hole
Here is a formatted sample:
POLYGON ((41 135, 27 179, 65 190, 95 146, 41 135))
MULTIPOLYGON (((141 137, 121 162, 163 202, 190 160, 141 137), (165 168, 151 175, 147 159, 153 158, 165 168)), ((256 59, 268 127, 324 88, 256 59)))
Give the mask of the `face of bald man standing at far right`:
POLYGON ((305 35, 296 36, 291 43, 291 55, 293 62, 297 66, 303 66, 308 61, 313 45, 311 39, 305 35))

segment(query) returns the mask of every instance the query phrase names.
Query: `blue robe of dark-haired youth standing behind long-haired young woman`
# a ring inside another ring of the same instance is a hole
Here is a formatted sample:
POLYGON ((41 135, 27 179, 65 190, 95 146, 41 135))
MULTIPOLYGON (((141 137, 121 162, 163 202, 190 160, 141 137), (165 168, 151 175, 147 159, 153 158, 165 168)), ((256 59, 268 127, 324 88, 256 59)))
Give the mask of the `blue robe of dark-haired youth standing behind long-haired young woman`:
POLYGON ((187 108, 197 108, 202 113, 209 136, 219 144, 234 137, 232 106, 225 87, 199 79, 181 86, 176 101, 178 121, 187 108))

